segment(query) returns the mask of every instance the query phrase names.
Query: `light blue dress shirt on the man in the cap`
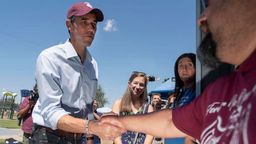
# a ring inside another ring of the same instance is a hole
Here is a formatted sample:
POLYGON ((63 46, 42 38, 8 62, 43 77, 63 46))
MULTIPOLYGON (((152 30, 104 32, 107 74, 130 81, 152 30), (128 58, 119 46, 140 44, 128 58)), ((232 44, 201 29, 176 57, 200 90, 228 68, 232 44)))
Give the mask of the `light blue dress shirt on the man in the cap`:
POLYGON ((93 119, 98 67, 88 49, 84 64, 69 39, 44 50, 37 58, 35 80, 39 93, 32 112, 35 124, 55 130, 63 115, 93 119))

